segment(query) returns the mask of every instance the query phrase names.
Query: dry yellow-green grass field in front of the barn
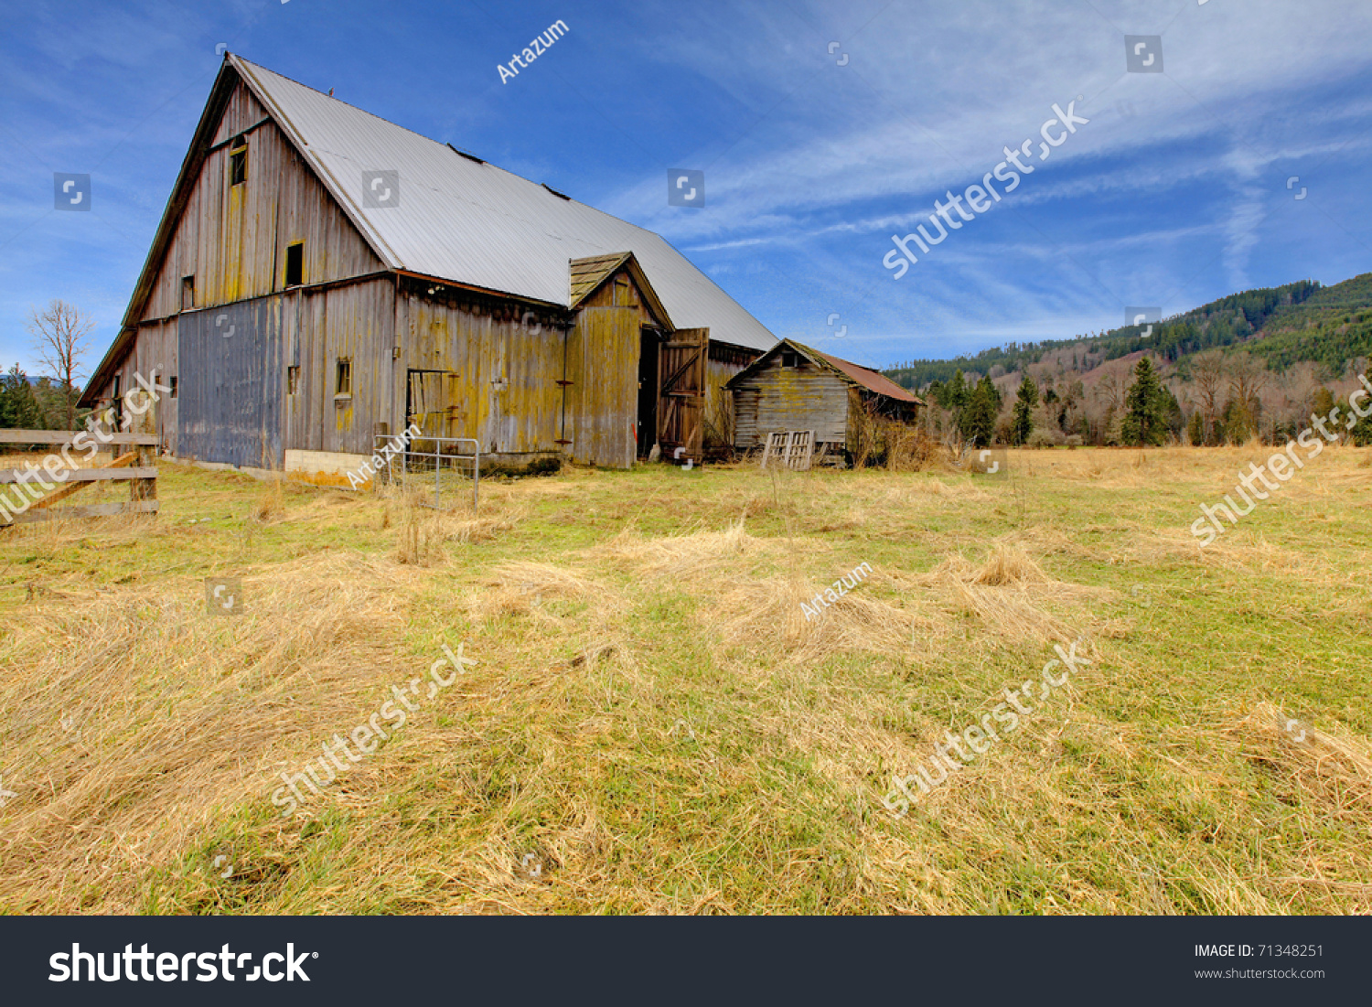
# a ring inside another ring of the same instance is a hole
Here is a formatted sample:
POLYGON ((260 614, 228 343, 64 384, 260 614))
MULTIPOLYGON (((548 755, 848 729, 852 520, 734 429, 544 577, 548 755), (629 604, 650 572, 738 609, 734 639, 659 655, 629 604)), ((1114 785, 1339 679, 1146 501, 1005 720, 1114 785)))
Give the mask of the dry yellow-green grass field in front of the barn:
POLYGON ((1268 454, 571 471, 476 516, 163 462, 156 520, 0 532, 0 911, 1372 912, 1372 451, 1202 550, 1268 454), (443 645, 477 664, 283 816, 443 645))

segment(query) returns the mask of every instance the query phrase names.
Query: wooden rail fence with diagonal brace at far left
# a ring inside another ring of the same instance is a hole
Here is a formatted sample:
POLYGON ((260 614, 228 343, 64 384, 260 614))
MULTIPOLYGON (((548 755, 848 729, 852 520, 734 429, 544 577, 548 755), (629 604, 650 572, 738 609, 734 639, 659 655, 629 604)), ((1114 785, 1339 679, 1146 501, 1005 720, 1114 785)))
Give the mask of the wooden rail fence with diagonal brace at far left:
MULTIPOLYGON (((52 445, 54 451, 58 453, 62 450, 62 446, 70 445, 74 436, 77 436, 74 431, 0 429, 0 445, 52 445)), ((10 524, 60 521, 70 517, 114 517, 117 514, 156 513, 158 471, 154 465, 154 460, 156 457, 156 445, 159 443, 158 436, 155 434, 104 434, 102 438, 96 438, 93 435, 88 436, 91 436, 92 443, 100 443, 102 449, 106 445, 126 445, 132 450, 129 450, 128 454, 117 457, 104 468, 97 469, 73 469, 63 462, 66 479, 62 480, 60 488, 56 488, 47 497, 34 501, 22 513, 15 512, 15 508, 11 506, 11 504, 23 506, 26 499, 23 497, 25 491, 16 486, 18 483, 34 486, 40 479, 47 483, 58 483, 58 480, 52 479, 41 468, 32 471, 32 475, 25 469, 0 469, 0 494, 3 494, 0 495, 0 505, 5 508, 4 510, 0 510, 0 528, 8 527, 10 524), (128 482, 129 502, 95 504, 84 508, 52 506, 74 493, 80 493, 92 483, 100 482, 128 482), (14 486, 12 490, 10 488, 11 486, 14 486), (14 516, 11 517, 7 512, 14 512, 14 516)), ((77 450, 85 451, 89 449, 77 450)))

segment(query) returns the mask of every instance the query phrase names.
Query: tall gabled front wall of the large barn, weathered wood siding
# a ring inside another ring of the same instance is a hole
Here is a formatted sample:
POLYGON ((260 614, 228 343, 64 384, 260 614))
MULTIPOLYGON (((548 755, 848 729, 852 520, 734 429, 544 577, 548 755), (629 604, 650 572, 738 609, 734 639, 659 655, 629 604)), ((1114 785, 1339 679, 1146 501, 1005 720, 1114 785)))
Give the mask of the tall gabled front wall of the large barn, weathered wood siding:
MULTIPOLYGON (((240 82, 156 268, 133 346, 117 372, 121 387, 134 387, 134 373, 151 377, 156 370, 163 384, 178 379, 177 398, 163 395, 155 407, 156 432, 173 454, 280 465, 285 447, 369 453, 372 423, 398 420, 403 412, 403 396, 395 405, 394 373, 403 368, 391 361, 394 280, 327 284, 381 269, 240 82), (247 177, 230 185, 229 155, 239 134, 247 136, 247 177), (285 250, 296 241, 303 241, 302 285, 285 291, 285 250), (182 277, 193 277, 188 307, 182 277), (225 339, 229 324, 247 328, 225 339), (214 336, 202 339, 210 329, 214 336), (182 358, 184 347, 199 351, 182 358), (274 361, 270 366, 266 357, 274 361), (339 357, 353 358, 353 395, 335 402, 339 357), (287 368, 292 365, 300 368, 300 377, 295 395, 288 395, 287 368), (220 394, 226 386, 237 394, 220 394), (182 414, 193 416, 193 434, 181 429, 182 414), (277 429, 259 429, 263 423, 277 429), (224 428, 222 436, 215 427, 224 428), (225 439, 229 431, 236 434, 225 439), (252 443, 237 443, 240 434, 252 443), (250 455, 257 461, 243 461, 250 455)), ((113 387, 110 380, 100 395, 108 398, 113 387)))

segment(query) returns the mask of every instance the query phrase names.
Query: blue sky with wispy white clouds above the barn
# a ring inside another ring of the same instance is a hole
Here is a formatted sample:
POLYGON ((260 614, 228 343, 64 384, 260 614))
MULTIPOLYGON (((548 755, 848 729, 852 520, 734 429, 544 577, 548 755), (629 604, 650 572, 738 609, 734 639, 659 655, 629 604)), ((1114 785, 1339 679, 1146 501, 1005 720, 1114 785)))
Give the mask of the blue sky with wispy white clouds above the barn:
POLYGON ((868 366, 1372 270, 1368 0, 132 0, 5 22, 0 361, 32 372, 32 305, 93 317, 88 369, 114 337, 218 43, 657 230, 778 336, 868 366), (1125 36, 1161 36, 1163 71, 1128 73, 1125 36), (1069 102, 1089 123, 1040 161, 1069 102), (1033 174, 895 279, 892 236, 937 236, 934 200, 1029 139, 1033 174), (704 170, 704 209, 667 204, 670 169, 704 170), (54 210, 56 171, 92 176, 89 213, 54 210))

